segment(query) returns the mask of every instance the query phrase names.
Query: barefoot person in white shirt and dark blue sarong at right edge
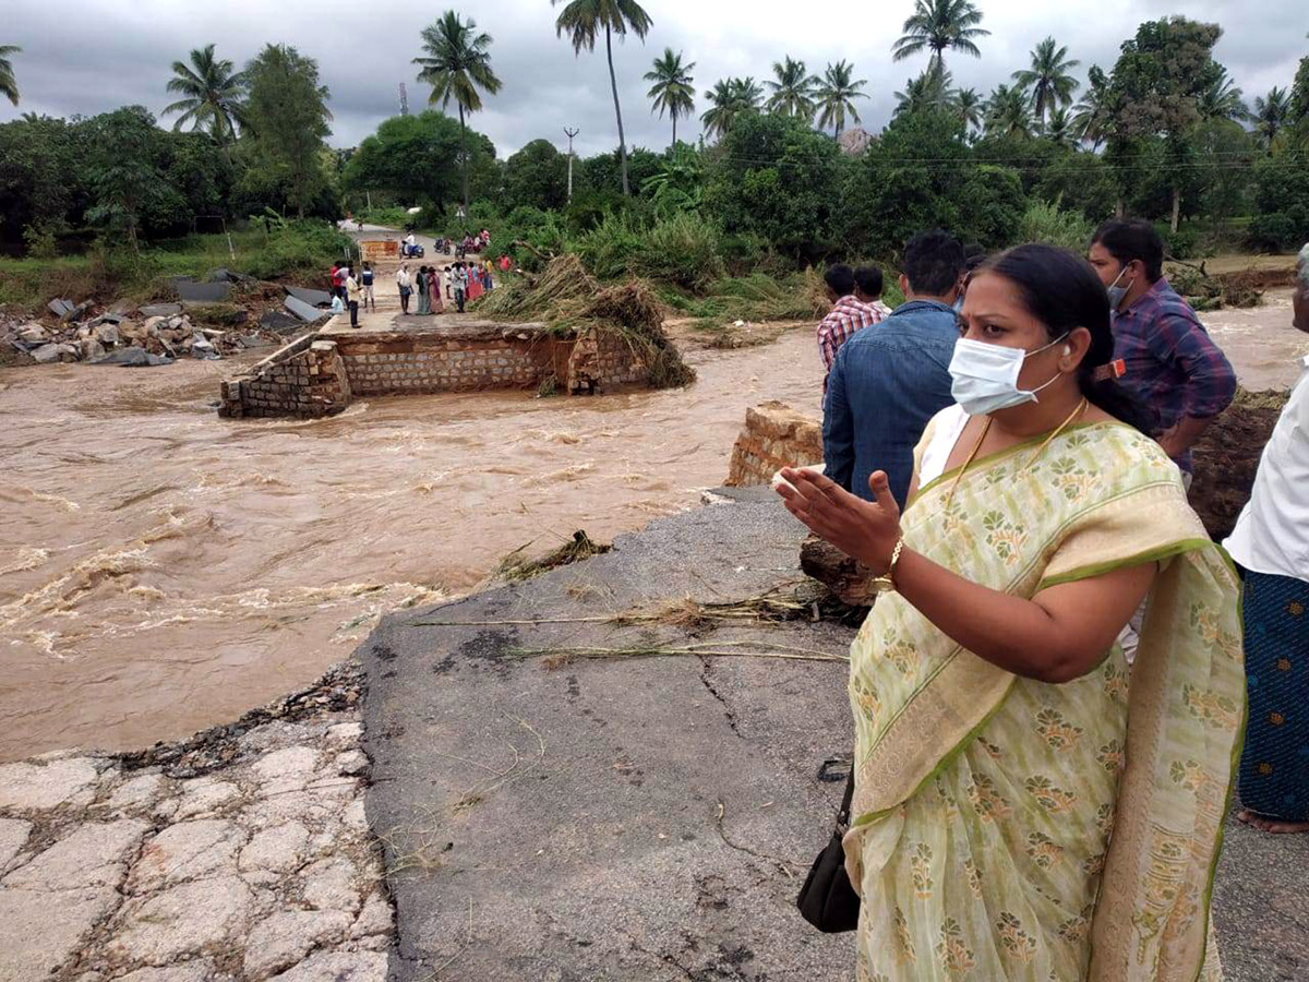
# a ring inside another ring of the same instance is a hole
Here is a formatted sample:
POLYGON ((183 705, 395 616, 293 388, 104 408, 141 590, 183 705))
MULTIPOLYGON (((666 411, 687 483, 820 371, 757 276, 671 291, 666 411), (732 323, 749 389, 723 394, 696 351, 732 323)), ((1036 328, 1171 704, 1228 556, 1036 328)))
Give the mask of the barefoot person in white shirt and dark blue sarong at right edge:
MULTIPOLYGON (((1309 245, 1291 304, 1292 325, 1309 334, 1309 245)), ((1263 831, 1309 831, 1309 357, 1301 365, 1223 543, 1245 571, 1250 712, 1237 818, 1263 831)))

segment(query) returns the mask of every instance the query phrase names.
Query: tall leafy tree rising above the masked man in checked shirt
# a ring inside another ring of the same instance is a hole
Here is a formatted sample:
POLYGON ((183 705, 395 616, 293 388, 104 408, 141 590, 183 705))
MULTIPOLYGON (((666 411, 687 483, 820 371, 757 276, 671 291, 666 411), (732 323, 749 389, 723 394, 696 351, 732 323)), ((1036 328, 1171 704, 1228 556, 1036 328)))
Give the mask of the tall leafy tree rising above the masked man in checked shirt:
POLYGON ((1192 177, 1187 173, 1192 156, 1187 136, 1199 120, 1200 97, 1223 71, 1212 55, 1221 35, 1223 29, 1216 24, 1185 17, 1148 21, 1136 29, 1135 38, 1123 43, 1110 81, 1109 153, 1123 174, 1122 186, 1132 183, 1130 168, 1139 165, 1131 141, 1162 139, 1164 168, 1173 187, 1174 233, 1181 219, 1182 186, 1192 177))

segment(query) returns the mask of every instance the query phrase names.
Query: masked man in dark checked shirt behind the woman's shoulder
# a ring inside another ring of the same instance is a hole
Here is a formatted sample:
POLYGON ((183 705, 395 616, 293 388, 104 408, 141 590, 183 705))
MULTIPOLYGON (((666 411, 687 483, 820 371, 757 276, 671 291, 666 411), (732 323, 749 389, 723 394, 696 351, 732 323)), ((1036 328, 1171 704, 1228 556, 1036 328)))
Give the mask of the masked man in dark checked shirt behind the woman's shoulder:
POLYGON ((1164 242, 1148 221, 1106 221, 1086 254, 1109 291, 1122 384, 1158 414, 1156 436, 1191 483, 1191 445, 1232 402, 1236 372, 1164 278, 1164 242))

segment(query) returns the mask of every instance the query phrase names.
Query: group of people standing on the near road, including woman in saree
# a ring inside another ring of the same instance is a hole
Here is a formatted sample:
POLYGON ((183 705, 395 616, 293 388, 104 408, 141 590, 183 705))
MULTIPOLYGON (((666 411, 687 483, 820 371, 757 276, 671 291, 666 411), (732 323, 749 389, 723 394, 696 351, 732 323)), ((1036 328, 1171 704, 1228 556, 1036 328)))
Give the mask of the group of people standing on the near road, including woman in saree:
POLYGON ((878 591, 850 676, 860 979, 1217 979, 1228 790, 1309 830, 1309 371, 1233 567, 1187 492, 1236 373, 1162 261, 1138 221, 1085 257, 933 230, 894 312, 880 270, 827 271, 825 467, 778 492, 878 591))

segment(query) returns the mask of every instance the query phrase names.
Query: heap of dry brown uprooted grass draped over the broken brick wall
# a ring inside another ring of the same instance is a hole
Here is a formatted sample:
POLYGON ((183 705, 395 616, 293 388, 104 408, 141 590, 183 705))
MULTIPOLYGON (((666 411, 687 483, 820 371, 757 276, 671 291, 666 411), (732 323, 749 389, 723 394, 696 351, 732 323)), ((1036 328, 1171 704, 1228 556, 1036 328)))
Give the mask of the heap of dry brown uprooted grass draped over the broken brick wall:
POLYGON ((473 306, 503 321, 541 321, 552 333, 618 335, 647 365, 649 385, 677 389, 695 381, 664 333, 664 306, 649 285, 635 278, 603 287, 572 253, 555 257, 539 275, 503 283, 473 306))

